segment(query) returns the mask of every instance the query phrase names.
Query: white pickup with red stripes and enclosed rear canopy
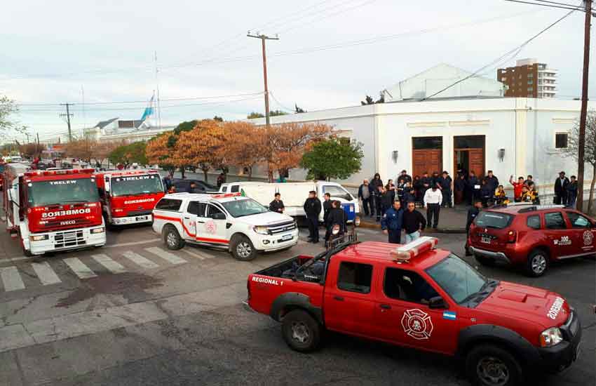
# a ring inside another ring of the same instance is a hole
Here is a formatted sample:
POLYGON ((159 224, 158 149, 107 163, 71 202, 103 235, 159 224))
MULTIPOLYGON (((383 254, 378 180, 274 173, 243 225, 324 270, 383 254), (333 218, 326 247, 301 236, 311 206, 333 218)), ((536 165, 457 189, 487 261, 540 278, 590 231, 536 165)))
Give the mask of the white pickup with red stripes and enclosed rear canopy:
POLYGON ((153 211, 153 229, 165 246, 215 246, 237 260, 258 251, 279 251, 298 244, 298 227, 290 216, 269 211, 257 201, 229 194, 166 194, 153 211))

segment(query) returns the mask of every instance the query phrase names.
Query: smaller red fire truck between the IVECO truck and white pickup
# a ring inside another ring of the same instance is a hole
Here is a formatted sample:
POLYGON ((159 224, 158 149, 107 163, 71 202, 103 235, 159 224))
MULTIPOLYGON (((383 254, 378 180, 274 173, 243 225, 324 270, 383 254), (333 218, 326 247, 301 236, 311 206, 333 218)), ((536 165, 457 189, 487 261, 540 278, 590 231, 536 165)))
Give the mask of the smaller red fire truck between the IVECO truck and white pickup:
POLYGON ((161 175, 156 170, 114 170, 95 174, 106 224, 151 222, 151 211, 163 197, 161 175))

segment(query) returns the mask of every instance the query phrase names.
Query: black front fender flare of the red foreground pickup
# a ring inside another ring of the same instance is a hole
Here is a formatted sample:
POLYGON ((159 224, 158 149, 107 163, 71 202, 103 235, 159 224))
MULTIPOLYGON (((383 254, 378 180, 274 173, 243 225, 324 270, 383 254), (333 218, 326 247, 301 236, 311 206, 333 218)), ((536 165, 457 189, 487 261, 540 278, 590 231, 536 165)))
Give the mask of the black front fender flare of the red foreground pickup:
POLYGON ((463 328, 459 332, 457 354, 464 357, 471 347, 482 343, 493 343, 511 350, 524 365, 534 366, 540 361, 539 350, 526 338, 509 328, 493 324, 475 324, 463 328))

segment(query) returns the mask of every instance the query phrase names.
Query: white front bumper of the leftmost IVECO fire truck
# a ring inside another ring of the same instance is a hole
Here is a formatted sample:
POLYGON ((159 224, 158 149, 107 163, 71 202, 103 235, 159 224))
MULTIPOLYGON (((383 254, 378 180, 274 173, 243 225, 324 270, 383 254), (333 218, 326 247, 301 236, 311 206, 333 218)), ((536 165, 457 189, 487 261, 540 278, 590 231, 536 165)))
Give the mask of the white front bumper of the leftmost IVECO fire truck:
POLYGON ((104 225, 89 228, 77 228, 60 232, 35 233, 32 236, 47 236, 45 240, 32 241, 29 239, 29 251, 34 255, 42 255, 52 251, 67 251, 69 249, 102 246, 106 244, 104 225), (102 229, 99 233, 97 230, 102 229), (94 231, 95 232, 92 232, 94 231))

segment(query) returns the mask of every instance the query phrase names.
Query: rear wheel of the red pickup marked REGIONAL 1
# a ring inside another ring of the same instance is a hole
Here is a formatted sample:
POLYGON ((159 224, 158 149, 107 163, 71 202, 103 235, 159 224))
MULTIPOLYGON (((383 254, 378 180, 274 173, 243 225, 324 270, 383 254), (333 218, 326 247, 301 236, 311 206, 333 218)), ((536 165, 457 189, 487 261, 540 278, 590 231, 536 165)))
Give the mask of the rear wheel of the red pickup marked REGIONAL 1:
POLYGON ((292 350, 309 352, 318 348, 321 327, 308 312, 294 310, 283 318, 281 333, 292 350))

